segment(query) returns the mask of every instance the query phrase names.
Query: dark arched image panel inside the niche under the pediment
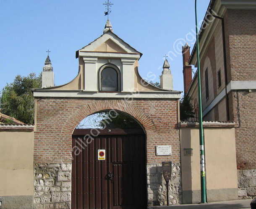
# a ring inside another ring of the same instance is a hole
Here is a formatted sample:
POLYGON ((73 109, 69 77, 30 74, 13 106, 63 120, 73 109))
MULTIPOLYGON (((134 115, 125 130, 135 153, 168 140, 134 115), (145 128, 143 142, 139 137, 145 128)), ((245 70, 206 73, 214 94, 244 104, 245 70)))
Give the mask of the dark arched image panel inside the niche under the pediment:
POLYGON ((101 73, 101 90, 115 92, 118 91, 117 72, 112 68, 105 68, 101 73))

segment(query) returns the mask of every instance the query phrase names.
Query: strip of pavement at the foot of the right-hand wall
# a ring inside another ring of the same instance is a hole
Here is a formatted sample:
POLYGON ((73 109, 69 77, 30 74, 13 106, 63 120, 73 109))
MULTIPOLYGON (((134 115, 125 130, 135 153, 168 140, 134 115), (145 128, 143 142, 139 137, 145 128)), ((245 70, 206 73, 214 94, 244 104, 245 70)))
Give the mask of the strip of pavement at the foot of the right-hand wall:
POLYGON ((149 206, 148 209, 251 209, 252 199, 212 202, 206 204, 149 206))

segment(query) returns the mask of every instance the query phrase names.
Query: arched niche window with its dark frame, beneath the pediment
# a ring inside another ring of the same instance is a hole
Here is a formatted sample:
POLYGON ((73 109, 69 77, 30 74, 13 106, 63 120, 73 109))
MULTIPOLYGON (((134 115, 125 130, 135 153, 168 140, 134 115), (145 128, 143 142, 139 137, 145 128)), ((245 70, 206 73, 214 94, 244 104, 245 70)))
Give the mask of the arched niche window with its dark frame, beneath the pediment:
POLYGON ((114 66, 103 66, 99 71, 99 90, 104 92, 120 91, 119 69, 114 66))

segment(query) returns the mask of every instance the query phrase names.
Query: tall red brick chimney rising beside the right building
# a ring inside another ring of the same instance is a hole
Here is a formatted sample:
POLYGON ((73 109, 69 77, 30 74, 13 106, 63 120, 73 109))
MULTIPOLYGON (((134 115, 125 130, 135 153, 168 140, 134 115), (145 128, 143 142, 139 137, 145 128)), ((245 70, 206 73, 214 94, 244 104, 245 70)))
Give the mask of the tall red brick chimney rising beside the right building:
POLYGON ((187 94, 188 88, 192 82, 192 66, 188 64, 190 58, 190 46, 188 43, 182 47, 183 54, 183 82, 184 82, 184 94, 187 94))

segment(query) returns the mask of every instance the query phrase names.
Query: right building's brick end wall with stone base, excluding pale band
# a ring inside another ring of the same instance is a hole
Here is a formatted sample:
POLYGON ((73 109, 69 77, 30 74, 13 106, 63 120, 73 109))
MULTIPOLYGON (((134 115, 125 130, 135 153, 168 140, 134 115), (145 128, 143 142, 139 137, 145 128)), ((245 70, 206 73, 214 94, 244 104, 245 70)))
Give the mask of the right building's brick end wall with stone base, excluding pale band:
MULTIPOLYGON (((255 10, 227 10, 225 14, 227 81, 256 80, 255 10)), ((230 120, 236 123, 238 195, 240 199, 256 195, 256 91, 229 93, 230 120)))

